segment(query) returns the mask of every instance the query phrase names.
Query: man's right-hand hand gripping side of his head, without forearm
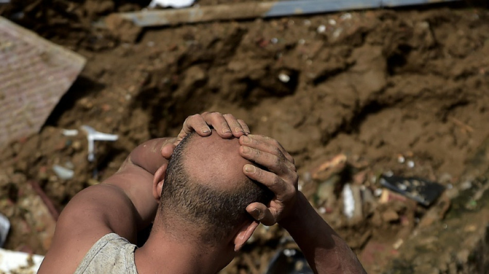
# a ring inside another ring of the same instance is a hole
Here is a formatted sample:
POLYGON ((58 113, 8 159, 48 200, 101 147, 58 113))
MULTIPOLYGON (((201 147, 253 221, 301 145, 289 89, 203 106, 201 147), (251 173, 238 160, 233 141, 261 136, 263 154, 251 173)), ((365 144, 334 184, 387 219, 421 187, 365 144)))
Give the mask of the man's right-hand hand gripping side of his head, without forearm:
POLYGON ((253 203, 246 210, 264 225, 271 226, 280 222, 293 208, 297 199, 298 175, 293 157, 280 143, 270 137, 249 134, 241 136, 239 143, 239 153, 242 157, 266 169, 245 165, 243 172, 275 194, 268 207, 261 203, 253 203))

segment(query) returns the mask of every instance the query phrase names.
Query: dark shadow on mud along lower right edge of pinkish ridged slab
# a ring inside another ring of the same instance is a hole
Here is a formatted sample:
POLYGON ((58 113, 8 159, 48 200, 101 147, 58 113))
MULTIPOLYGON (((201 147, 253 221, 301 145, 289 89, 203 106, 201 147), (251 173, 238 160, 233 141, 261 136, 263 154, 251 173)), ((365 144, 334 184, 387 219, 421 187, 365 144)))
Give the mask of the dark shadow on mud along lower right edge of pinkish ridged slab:
POLYGON ((98 93, 105 86, 103 84, 94 82, 89 78, 79 76, 73 83, 71 88, 61 97, 58 104, 55 106, 49 117, 46 119, 43 127, 46 125, 57 125, 60 117, 66 111, 73 109, 76 101, 82 97, 86 97, 93 93, 98 93))

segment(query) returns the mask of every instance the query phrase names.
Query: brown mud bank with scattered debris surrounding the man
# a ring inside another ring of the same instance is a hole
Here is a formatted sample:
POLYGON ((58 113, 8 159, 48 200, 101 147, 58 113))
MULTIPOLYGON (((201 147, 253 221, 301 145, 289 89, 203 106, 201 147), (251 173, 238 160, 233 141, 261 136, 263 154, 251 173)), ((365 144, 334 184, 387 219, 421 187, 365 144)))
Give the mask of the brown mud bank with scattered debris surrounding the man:
MULTIPOLYGON (((370 193, 380 188, 376 176, 391 171, 462 189, 481 176, 469 169, 489 136, 489 11, 480 6, 118 33, 93 24, 110 12, 138 9, 115 0, 12 1, 0 7, 0 14, 88 59, 42 131, 14 141, 0 156, 0 212, 13 226, 6 248, 46 251, 49 239, 38 236, 29 223, 32 210, 22 206, 26 197, 37 195, 28 181, 39 182, 61 210, 78 191, 113 174, 138 143, 174 136, 188 115, 204 111, 232 113, 253 133, 280 141, 293 154, 311 203, 324 209, 325 220, 370 273, 386 270, 389 260, 404 255, 402 245, 418 224, 443 221, 453 197, 444 194, 434 215, 402 197, 370 202, 363 197, 361 216, 352 221, 342 214, 346 182, 370 193), (83 134, 62 135, 62 129, 83 124, 119 135, 116 142, 96 144, 93 163, 86 160, 83 134), (327 201, 318 200, 323 181, 310 174, 341 153, 347 163, 323 178, 336 178, 335 186, 327 201), (413 167, 407 165, 411 161, 413 167), (75 177, 58 178, 55 164, 73 166, 75 177), (380 249, 387 250, 388 261, 378 257, 380 249)), ((225 272, 264 272, 274 250, 290 245, 281 237, 287 238, 278 227, 260 228, 225 272)), ((458 273, 457 268, 439 271, 458 273)))

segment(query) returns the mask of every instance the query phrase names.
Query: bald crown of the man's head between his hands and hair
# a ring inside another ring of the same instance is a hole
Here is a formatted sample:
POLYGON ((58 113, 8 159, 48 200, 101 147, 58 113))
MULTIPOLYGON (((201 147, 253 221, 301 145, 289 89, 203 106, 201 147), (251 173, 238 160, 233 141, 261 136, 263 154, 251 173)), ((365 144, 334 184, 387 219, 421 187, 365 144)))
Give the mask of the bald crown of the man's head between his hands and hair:
POLYGON ((246 181, 243 166, 250 161, 239 155, 239 139, 223 139, 214 130, 210 136, 194 135, 187 144, 184 165, 190 177, 222 189, 246 181))

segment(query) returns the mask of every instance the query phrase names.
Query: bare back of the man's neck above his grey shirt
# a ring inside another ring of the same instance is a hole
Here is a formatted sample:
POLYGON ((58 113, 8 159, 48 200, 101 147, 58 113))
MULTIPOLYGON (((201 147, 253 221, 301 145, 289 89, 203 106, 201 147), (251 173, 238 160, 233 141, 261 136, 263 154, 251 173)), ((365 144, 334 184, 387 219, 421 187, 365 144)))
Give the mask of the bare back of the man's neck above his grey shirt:
POLYGON ((135 250, 134 256, 139 274, 214 274, 225 266, 217 248, 176 240, 163 229, 151 231, 148 241, 135 250))

